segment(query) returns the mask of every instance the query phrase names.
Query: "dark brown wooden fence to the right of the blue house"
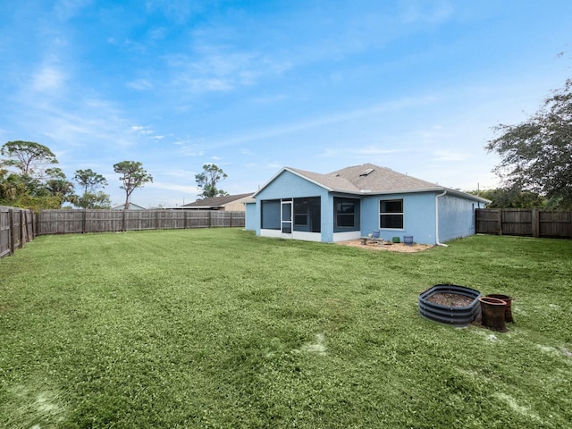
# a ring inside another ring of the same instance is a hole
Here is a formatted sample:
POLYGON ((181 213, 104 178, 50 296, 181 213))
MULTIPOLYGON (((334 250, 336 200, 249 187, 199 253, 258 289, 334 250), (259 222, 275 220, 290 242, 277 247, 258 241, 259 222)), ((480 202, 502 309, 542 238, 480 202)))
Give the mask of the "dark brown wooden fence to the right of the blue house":
POLYGON ((476 209, 477 234, 572 239, 572 212, 531 208, 476 209))

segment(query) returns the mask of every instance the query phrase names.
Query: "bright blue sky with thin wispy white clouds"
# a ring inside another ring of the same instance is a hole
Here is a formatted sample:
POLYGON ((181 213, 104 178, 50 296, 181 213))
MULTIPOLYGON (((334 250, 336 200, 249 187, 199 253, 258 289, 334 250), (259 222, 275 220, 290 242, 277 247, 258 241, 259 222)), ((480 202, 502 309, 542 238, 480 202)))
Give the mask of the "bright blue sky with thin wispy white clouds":
POLYGON ((572 2, 0 1, 0 144, 50 147, 71 180, 139 161, 141 206, 227 192, 282 166, 373 163, 455 189, 497 186, 492 126, 571 77, 572 2), (563 53, 563 54, 560 54, 563 53))

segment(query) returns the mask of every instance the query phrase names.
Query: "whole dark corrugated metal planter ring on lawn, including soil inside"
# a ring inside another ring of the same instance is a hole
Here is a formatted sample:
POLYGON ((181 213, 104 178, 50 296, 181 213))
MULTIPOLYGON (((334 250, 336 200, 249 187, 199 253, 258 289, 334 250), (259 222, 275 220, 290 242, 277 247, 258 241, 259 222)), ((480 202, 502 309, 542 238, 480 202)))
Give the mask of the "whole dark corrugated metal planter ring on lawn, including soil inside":
POLYGON ((466 326, 481 309, 478 290, 455 284, 436 284, 419 294, 419 313, 424 317, 455 326, 466 326))

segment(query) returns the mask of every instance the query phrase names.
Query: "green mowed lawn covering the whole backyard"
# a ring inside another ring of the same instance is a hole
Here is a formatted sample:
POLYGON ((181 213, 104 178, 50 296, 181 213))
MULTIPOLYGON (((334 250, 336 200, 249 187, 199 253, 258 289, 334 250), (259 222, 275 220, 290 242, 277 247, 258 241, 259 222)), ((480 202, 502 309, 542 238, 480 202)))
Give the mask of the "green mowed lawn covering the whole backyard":
POLYGON ((570 240, 142 231, 0 261, 0 427, 564 428, 571 390, 570 240), (420 317, 442 282, 512 296, 516 324, 420 317))

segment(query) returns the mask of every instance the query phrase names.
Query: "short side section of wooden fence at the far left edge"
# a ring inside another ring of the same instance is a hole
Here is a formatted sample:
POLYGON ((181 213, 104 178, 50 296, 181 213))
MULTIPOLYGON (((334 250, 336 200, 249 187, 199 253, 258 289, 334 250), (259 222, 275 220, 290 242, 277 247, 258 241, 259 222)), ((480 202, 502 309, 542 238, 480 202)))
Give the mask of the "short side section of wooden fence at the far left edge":
POLYGON ((16 248, 34 240, 34 212, 0 206, 0 257, 12 255, 16 248))

